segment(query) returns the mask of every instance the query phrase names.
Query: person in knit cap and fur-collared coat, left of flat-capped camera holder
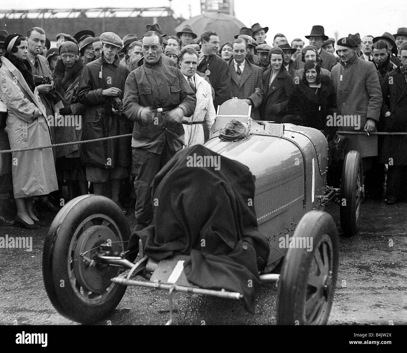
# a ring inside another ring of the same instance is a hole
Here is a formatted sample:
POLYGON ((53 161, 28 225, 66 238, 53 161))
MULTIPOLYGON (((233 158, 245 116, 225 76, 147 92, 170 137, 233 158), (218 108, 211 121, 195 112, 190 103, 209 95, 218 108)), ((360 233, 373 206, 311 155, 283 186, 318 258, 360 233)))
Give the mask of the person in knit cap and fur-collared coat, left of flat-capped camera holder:
MULTIPOLYGON (((78 46, 70 41, 61 43, 57 52, 59 58, 55 65, 54 81, 57 92, 64 98, 64 107, 59 109, 59 115, 81 116, 84 119, 86 106, 82 103, 73 103, 72 97, 79 85, 79 76, 83 68, 79 58, 78 46)), ((82 122, 80 126, 55 126, 56 143, 81 141, 82 122)), ((81 164, 81 145, 68 145, 56 147, 57 175, 60 182, 65 180, 68 188, 68 199, 88 193, 88 181, 85 169, 81 164)))

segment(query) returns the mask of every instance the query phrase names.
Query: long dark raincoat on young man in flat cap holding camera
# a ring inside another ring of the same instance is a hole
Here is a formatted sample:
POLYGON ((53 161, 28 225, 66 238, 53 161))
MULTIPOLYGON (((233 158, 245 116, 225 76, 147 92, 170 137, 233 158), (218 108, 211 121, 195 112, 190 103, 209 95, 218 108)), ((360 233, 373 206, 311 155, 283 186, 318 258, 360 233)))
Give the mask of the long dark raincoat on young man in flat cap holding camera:
MULTIPOLYGON (((113 97, 102 95, 104 89, 117 87, 121 89, 120 99, 123 99, 128 74, 117 55, 111 64, 102 54, 83 67, 77 94, 78 102, 86 106, 82 140, 131 133, 131 122, 125 115, 113 113, 113 97)), ((81 160, 83 165, 97 168, 128 167, 131 161, 130 137, 83 144, 81 160)))

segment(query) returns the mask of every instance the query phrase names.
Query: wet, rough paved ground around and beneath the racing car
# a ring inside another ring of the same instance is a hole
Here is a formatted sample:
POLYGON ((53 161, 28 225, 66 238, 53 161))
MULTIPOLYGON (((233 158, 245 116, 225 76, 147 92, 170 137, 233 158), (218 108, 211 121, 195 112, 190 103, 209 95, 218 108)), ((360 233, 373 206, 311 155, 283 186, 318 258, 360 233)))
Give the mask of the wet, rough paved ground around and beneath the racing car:
MULTIPOLYGON (((407 324, 407 204, 365 201, 362 206, 360 233, 340 238, 339 277, 329 323, 407 324)), ((339 227, 339 208, 333 205, 326 210, 339 227)), ((53 215, 47 216, 50 222, 53 215)), ((133 217, 128 217, 132 223, 133 217)), ((47 230, 0 228, 0 236, 33 237, 31 252, 0 249, 0 324, 74 324, 56 312, 44 290, 41 259, 47 230)), ((272 325, 276 293, 274 285, 262 286, 254 315, 237 302, 176 293, 174 323, 272 325)), ((164 292, 127 288, 118 308, 100 324, 164 324, 168 316, 164 292)))

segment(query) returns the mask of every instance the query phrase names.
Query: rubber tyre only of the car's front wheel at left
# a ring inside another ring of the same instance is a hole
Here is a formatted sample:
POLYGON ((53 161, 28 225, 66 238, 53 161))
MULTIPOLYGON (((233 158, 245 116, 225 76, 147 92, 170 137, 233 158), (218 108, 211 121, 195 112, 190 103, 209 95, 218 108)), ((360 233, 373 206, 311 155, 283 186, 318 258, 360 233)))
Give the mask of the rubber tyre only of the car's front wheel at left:
MULTIPOLYGON (((72 236, 77 227, 94 214, 103 214, 112 219, 121 240, 129 240, 131 232, 127 219, 112 200, 99 195, 83 195, 72 199, 58 212, 46 236, 42 256, 44 286, 51 303, 61 315, 83 324, 98 322, 110 314, 127 288, 114 284, 105 300, 89 304, 81 300, 70 282, 68 252, 72 236), (64 281, 63 287, 61 280, 64 281)), ((122 243, 122 247, 125 246, 122 243)))

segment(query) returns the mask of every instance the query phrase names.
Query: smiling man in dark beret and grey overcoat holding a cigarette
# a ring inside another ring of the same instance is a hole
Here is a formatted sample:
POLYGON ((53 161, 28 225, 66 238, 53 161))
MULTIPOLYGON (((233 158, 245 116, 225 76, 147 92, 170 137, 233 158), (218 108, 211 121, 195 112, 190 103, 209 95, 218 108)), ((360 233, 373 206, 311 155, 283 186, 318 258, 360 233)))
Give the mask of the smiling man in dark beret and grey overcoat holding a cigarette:
MULTIPOLYGON (((331 71, 337 107, 343 117, 356 117, 353 121, 350 119, 350 126, 342 126, 338 130, 376 131, 383 102, 376 68, 372 62, 357 56, 357 43, 349 37, 337 41, 337 51, 341 61, 331 71)), ((349 143, 345 155, 351 150, 358 151, 362 157, 363 172, 369 171, 372 168, 372 157, 377 156, 377 136, 346 137, 349 143)))

